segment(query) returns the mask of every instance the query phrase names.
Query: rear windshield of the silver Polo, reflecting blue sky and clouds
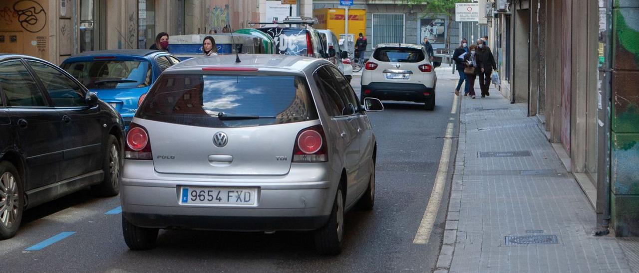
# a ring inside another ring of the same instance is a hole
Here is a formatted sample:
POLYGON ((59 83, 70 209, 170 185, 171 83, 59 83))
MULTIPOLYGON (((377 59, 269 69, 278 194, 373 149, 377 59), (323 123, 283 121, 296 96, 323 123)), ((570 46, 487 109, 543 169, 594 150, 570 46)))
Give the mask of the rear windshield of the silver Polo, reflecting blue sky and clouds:
POLYGON ((304 77, 162 75, 136 117, 209 128, 263 126, 318 119, 304 77))

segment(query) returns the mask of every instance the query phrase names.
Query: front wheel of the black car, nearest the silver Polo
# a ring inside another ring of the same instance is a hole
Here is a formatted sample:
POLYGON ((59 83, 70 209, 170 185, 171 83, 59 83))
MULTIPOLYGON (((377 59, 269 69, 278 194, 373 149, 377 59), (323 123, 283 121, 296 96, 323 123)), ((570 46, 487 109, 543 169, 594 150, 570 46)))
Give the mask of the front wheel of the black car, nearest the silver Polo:
POLYGON ((107 145, 102 151, 102 170, 104 181, 95 186, 94 191, 99 196, 116 196, 119 193, 119 179, 122 172, 122 150, 118 139, 109 135, 107 145))

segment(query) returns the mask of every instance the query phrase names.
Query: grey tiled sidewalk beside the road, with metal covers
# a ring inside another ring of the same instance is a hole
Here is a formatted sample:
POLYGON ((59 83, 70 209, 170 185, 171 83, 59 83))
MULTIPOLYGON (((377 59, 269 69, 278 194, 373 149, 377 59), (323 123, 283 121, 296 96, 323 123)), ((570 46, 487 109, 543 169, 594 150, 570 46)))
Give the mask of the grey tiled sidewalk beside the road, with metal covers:
MULTIPOLYGON (((450 70, 441 74, 456 81, 450 70)), ((639 256, 624 249, 639 248, 639 241, 592 235, 592 206, 526 105, 511 105, 493 88, 490 94, 461 97, 435 272, 638 272, 631 265, 639 256)))

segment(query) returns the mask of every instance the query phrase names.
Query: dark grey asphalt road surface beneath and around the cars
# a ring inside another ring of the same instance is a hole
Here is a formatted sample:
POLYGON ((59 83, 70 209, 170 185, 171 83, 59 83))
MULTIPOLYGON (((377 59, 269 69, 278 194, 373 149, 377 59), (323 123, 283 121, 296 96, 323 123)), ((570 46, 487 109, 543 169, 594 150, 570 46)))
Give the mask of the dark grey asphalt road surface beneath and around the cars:
MULTIPOLYGON (((353 78, 357 93, 359 80, 353 78)), ((0 265, 6 272, 430 272, 442 241, 452 166, 428 244, 413 239, 431 196, 447 124, 458 123, 458 115, 450 114, 453 87, 452 80, 438 81, 433 112, 423 104, 385 101, 383 112, 369 114, 378 138, 375 208, 346 214, 339 256, 317 255, 312 237, 302 232, 162 230, 156 249, 130 251, 119 198, 81 191, 27 210, 17 236, 0 241, 0 265), (26 250, 62 232, 74 233, 26 250)), ((454 141, 452 151, 451 159, 454 141)))

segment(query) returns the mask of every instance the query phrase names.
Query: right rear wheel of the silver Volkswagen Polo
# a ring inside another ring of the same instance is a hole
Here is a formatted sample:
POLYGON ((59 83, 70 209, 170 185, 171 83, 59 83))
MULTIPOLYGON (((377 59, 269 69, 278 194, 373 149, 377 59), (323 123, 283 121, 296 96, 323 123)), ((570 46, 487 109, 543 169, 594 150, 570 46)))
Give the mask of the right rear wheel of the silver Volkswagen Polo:
POLYGON ((341 187, 337 188, 328 223, 316 230, 314 237, 319 254, 338 255, 341 252, 344 237, 344 197, 341 187))

